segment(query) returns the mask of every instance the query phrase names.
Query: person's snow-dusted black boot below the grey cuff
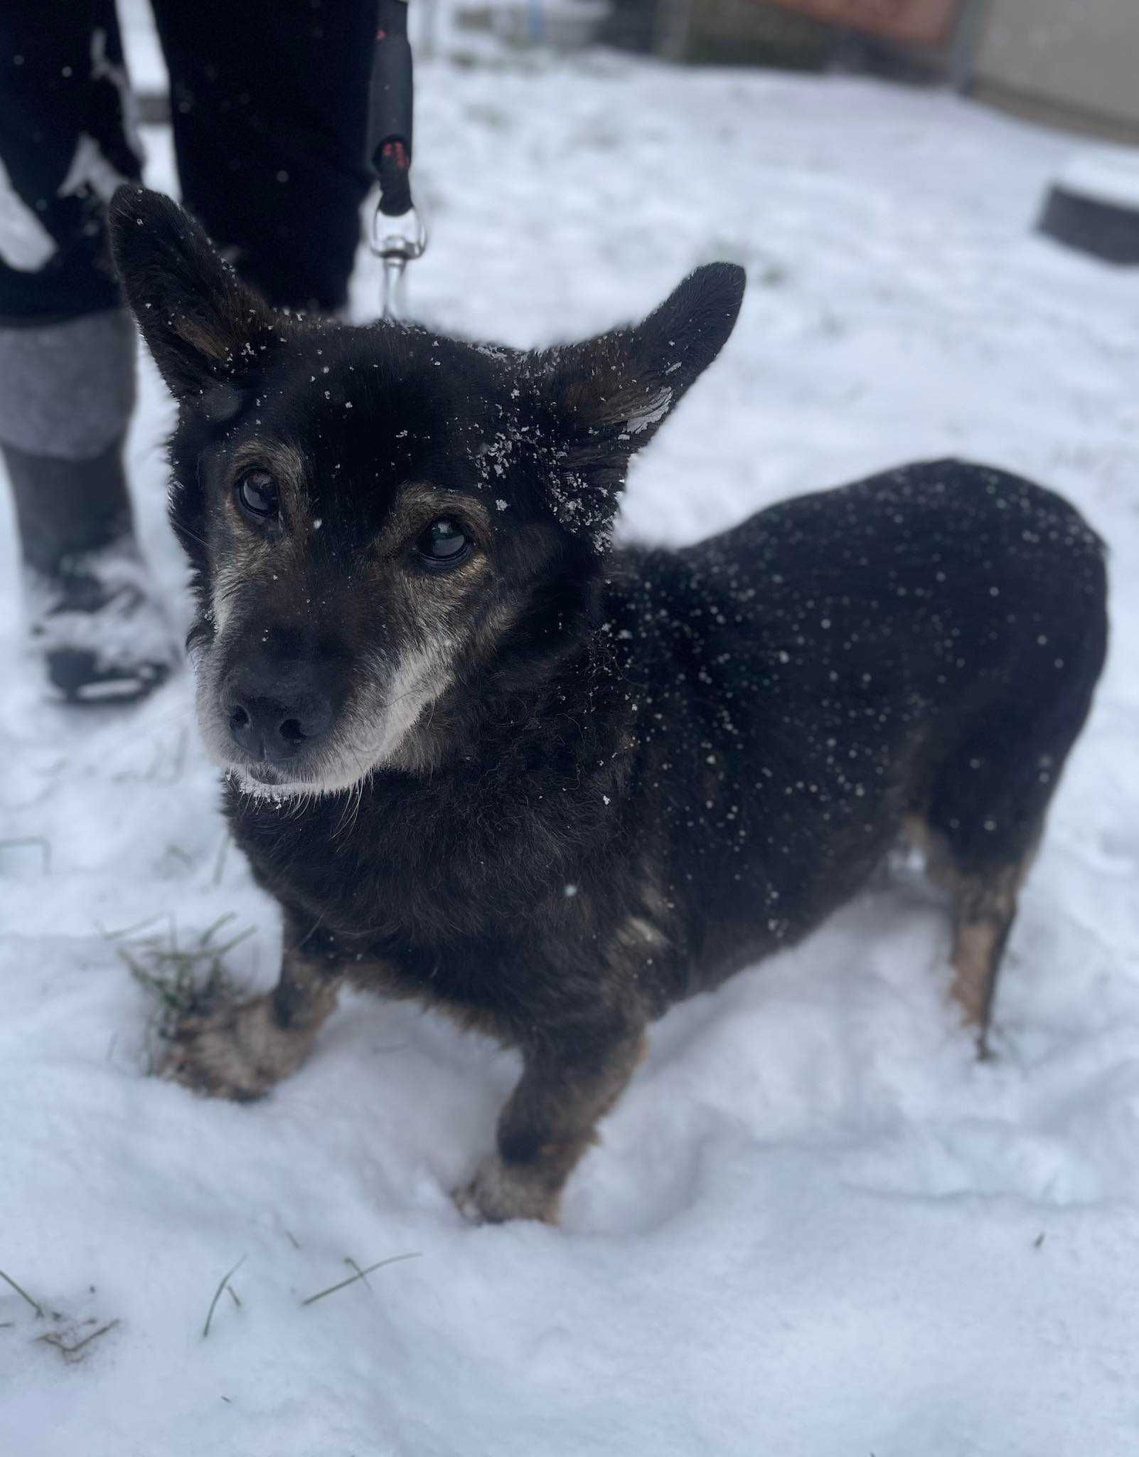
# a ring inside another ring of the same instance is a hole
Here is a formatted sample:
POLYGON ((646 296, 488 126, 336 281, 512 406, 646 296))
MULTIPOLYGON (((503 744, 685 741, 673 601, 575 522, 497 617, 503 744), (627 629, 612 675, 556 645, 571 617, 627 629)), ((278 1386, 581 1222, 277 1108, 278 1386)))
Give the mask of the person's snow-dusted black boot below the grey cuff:
POLYGON ((68 704, 137 702, 178 661, 131 530, 122 441, 90 460, 4 444, 32 643, 68 704))

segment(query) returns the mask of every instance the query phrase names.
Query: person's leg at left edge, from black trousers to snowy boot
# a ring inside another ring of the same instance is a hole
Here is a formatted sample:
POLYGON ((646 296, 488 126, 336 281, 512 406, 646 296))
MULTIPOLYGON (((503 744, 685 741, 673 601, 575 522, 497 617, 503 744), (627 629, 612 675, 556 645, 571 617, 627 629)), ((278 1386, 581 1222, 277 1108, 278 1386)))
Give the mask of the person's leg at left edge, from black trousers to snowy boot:
POLYGON ((34 632, 64 696, 131 699, 165 678, 147 619, 122 441, 134 331, 103 208, 137 179, 112 0, 0 9, 0 455, 34 632))

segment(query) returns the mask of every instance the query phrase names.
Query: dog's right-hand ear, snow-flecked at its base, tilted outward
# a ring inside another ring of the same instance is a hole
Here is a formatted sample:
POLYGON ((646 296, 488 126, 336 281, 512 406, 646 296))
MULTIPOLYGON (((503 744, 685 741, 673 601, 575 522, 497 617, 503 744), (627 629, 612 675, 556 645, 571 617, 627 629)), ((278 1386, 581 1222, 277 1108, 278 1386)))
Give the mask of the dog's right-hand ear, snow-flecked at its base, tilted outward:
POLYGON ((555 411, 559 519, 604 527, 631 456, 657 433, 731 334, 746 275, 737 264, 689 274, 644 323, 540 356, 555 411))

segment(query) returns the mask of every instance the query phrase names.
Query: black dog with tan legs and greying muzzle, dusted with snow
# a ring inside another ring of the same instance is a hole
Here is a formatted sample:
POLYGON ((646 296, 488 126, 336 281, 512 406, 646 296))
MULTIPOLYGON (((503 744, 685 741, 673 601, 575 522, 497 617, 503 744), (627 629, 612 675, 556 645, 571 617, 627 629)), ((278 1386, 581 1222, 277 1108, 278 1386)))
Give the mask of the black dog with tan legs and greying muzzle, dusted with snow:
POLYGON ((344 982, 443 1008, 523 1059, 460 1209, 553 1222, 648 1024, 907 830, 985 1046, 1106 651, 1069 504, 939 460, 616 549, 629 460, 727 341, 741 268, 523 353, 275 313, 134 186, 111 232, 179 405, 201 731, 284 915, 275 991, 188 1020, 170 1075, 267 1093, 344 982))

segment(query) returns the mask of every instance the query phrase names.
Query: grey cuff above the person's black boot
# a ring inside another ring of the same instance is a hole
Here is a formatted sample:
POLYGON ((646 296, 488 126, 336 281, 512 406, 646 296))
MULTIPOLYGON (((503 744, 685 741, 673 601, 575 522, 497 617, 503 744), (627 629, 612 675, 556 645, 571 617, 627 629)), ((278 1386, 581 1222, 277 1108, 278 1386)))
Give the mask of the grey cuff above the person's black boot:
POLYGON ((134 325, 125 309, 64 323, 0 325, 0 443, 89 460, 134 407, 134 325))

